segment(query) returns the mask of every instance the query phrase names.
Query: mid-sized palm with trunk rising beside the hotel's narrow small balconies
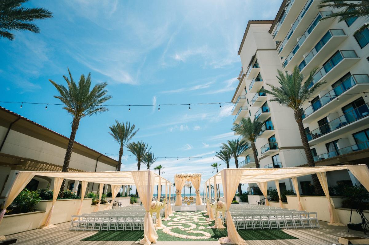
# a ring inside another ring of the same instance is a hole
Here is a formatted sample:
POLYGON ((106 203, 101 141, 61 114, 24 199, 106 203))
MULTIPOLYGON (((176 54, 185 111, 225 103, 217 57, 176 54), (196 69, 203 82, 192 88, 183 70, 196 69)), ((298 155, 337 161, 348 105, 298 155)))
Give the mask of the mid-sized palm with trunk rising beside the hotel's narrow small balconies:
POLYGON ((232 130, 240 135, 244 136, 251 142, 252 153, 255 158, 255 167, 260 168, 258 155, 256 154, 255 141, 258 139, 262 133, 264 122, 255 119, 251 121, 250 118, 242 118, 239 124, 234 123, 232 130))

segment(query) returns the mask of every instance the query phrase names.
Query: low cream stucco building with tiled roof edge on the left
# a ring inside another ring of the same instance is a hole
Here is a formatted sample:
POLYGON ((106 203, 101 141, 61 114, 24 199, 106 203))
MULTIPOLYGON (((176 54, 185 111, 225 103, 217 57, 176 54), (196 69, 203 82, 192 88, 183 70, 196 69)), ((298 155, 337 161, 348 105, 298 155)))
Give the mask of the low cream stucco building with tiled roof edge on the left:
MULTIPOLYGON (((68 137, 0 107, 0 203, 19 171, 61 171, 68 140, 68 137)), ((117 164, 118 161, 75 142, 69 171, 116 171, 117 164)), ((34 177, 27 188, 36 190, 48 184, 53 187, 50 178, 34 177)), ((67 180, 66 188, 79 194, 80 184, 67 180)), ((104 188, 105 193, 110 190, 110 186, 104 188)), ((97 190, 97 184, 88 183, 86 193, 97 190)))

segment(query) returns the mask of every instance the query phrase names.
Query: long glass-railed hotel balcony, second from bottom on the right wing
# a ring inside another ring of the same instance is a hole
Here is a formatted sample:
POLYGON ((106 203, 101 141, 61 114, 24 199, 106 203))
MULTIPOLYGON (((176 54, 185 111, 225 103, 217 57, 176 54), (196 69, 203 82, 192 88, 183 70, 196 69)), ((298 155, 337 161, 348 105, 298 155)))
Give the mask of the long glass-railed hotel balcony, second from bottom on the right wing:
POLYGON ((338 137, 342 133, 349 132, 348 125, 352 128, 359 128, 368 124, 369 106, 368 103, 345 113, 330 122, 321 125, 306 134, 310 144, 318 144, 327 138, 338 137))

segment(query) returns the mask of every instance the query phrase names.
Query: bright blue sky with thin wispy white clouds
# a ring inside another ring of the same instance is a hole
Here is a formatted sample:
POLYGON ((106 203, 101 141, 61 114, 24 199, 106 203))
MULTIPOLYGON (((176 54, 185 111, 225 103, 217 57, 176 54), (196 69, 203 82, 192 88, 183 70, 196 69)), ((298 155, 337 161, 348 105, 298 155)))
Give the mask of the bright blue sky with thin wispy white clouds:
MULTIPOLYGON (((58 103, 48 81, 65 83, 67 67, 77 80, 91 72, 94 83, 107 82, 108 104, 229 102, 238 80, 237 55, 248 20, 273 19, 281 0, 268 1, 119 1, 32 0, 54 18, 37 21, 40 34, 16 32, 0 39, 1 101, 58 103)), ((71 117, 61 106, 0 103, 1 106, 70 135, 71 117)), ((114 120, 140 130, 134 141, 152 146, 156 156, 214 156, 231 132, 232 105, 111 107, 82 119, 76 141, 101 153, 118 153, 108 135, 114 120)), ((237 137, 236 137, 237 138, 237 137)), ((124 154, 129 154, 125 149, 124 154)), ((115 156, 112 156, 115 158, 115 156)), ((241 159, 243 160, 243 159, 241 159)), ((164 177, 174 173, 212 176, 217 160, 162 159, 164 177)), ((225 167, 221 163, 220 169, 225 167)), ((234 163, 231 163, 234 166, 234 163)), ((122 170, 136 170, 134 157, 122 170)), ((202 190, 201 190, 202 191, 202 190)))

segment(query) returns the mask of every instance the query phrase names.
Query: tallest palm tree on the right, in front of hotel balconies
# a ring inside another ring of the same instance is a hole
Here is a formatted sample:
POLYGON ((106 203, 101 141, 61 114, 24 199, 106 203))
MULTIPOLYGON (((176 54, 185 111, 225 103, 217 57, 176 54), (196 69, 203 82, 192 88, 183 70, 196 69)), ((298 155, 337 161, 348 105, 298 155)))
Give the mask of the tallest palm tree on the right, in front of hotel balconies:
MULTIPOLYGON (((304 125, 302 123, 302 105, 305 101, 309 99, 309 96, 314 93, 321 85, 325 84, 325 81, 315 82, 313 86, 313 77, 317 72, 317 68, 314 68, 310 75, 308 76, 305 83, 304 74, 300 73, 299 67, 297 65, 294 67, 292 74, 284 74, 282 71, 278 70, 278 80, 280 87, 270 85, 271 91, 267 89, 261 89, 259 92, 265 92, 273 96, 270 101, 276 101, 280 104, 293 109, 294 118, 297 125, 299 126, 301 142, 304 147, 307 163, 310 167, 315 166, 313 154, 311 154, 310 145, 307 140, 307 136, 304 130, 304 125), (309 88, 310 87, 310 88, 309 88)), ((322 189, 316 174, 312 174, 315 194, 320 194, 322 189)))

